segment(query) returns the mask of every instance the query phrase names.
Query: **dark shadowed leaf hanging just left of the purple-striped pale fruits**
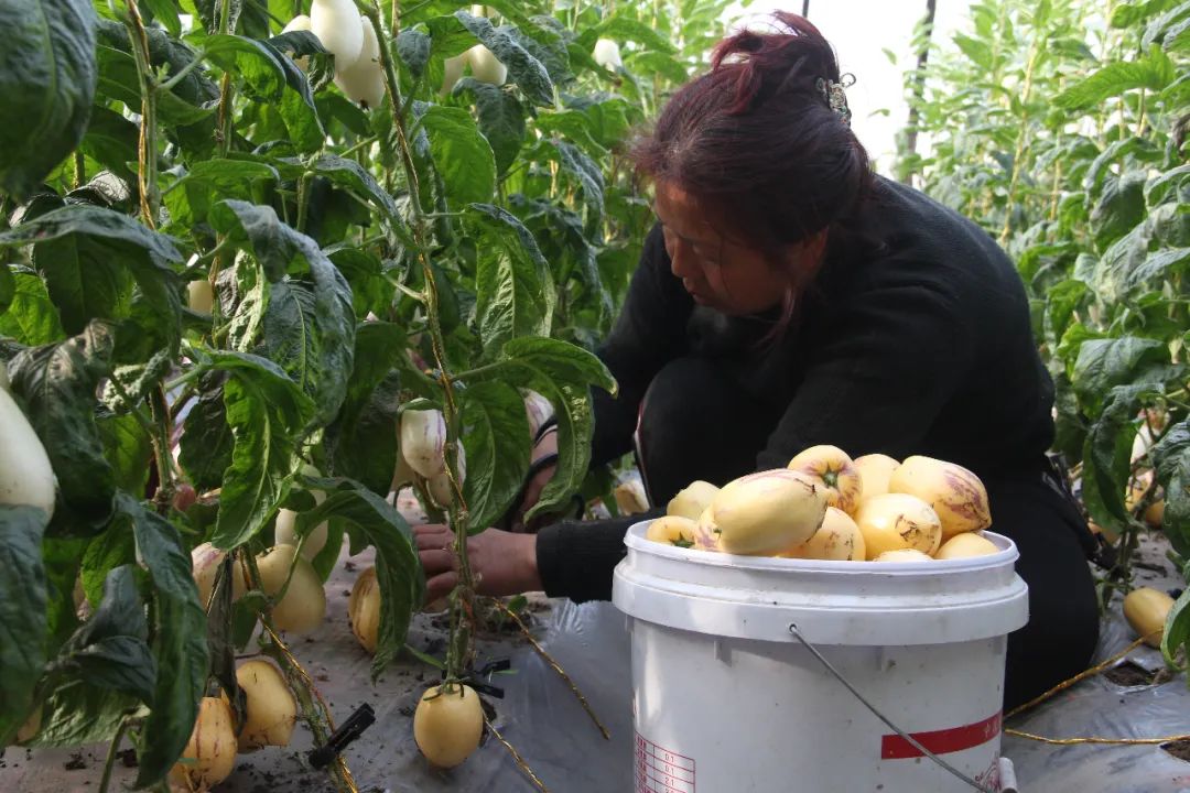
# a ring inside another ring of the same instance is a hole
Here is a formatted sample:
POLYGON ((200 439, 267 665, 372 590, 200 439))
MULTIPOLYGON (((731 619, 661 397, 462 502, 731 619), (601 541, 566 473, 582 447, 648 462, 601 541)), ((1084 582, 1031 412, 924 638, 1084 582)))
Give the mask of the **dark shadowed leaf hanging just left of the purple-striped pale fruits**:
POLYGON ((387 496, 396 467, 396 414, 401 405, 396 370, 407 357, 405 331, 389 322, 364 322, 356 332, 355 369, 347 397, 327 427, 331 470, 350 473, 387 496))

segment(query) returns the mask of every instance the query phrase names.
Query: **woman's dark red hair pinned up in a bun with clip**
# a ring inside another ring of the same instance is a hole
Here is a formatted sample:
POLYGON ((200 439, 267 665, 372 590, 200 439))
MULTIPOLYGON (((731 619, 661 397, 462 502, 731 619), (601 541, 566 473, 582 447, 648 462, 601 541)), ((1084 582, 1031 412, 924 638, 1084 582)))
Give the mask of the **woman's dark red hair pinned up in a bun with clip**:
MULTIPOLYGON (((674 94, 633 151, 639 174, 689 193, 725 237, 768 253, 845 233, 872 184, 868 152, 816 84, 840 81, 829 43, 802 17, 774 18, 772 32, 724 39, 710 71, 674 94)), ((790 275, 795 292, 813 277, 790 275)))

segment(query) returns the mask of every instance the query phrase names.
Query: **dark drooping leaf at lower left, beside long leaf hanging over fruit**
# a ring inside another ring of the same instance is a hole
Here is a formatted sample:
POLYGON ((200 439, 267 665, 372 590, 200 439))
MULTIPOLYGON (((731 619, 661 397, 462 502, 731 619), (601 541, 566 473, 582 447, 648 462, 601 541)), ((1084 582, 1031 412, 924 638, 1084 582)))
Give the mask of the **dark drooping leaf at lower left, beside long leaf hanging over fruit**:
POLYGON ((151 703, 157 663, 149 650, 149 623, 133 569, 125 565, 111 571, 99 608, 62 648, 51 675, 67 674, 151 703))

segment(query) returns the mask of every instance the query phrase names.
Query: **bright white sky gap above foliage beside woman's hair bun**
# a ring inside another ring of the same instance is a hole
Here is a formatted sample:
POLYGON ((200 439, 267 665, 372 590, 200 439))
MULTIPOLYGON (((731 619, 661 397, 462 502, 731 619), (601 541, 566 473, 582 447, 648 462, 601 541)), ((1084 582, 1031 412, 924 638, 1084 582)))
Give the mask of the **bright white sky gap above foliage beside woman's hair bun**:
MULTIPOLYGON (((938 0, 934 42, 953 49, 951 37, 964 26, 970 0, 938 0)), ((731 7, 725 23, 763 21, 775 11, 801 13, 801 0, 756 0, 731 7)), ((909 117, 904 101, 906 69, 916 63, 913 30, 926 14, 926 0, 810 0, 809 20, 822 31, 844 73, 856 75, 847 89, 852 127, 882 174, 890 171, 896 133, 909 117), (885 50, 896 56, 889 61, 885 50)))

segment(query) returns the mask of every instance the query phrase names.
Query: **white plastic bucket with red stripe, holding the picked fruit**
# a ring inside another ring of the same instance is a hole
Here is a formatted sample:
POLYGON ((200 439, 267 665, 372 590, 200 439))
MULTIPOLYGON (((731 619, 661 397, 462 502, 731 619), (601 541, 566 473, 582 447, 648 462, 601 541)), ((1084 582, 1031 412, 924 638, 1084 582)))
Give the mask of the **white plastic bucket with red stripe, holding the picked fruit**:
POLYGON ((637 793, 970 793, 900 730, 1000 789, 1008 634, 1028 621, 1015 545, 932 562, 734 556, 625 537, 637 793))

